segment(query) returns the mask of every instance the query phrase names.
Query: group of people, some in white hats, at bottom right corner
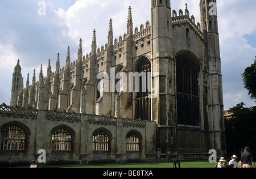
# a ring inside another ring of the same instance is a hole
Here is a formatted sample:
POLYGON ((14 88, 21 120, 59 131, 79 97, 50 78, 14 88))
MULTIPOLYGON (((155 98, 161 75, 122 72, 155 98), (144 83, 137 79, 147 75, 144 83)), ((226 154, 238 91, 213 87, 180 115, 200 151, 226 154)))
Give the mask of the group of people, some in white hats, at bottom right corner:
POLYGON ((245 147, 245 152, 243 152, 238 166, 236 161, 238 157, 236 155, 233 155, 229 163, 224 159, 224 157, 221 157, 219 162, 216 164, 216 168, 256 168, 253 155, 251 155, 249 151, 250 147, 245 147))

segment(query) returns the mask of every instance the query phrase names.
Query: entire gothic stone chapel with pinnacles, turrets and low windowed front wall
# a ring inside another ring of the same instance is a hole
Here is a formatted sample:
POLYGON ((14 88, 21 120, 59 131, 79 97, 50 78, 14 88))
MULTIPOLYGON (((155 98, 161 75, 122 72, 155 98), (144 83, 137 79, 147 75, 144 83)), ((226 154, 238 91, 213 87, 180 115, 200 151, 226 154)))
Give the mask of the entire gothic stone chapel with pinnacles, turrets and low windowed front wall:
POLYGON ((224 156, 218 22, 217 14, 209 13, 213 3, 200 0, 201 23, 196 23, 187 6, 177 12, 170 0, 151 0, 151 21, 140 27, 133 26, 129 7, 123 36, 114 39, 110 19, 105 46, 97 48, 94 29, 91 52, 83 54, 80 39, 75 61, 68 47, 66 65, 60 67, 57 54, 55 72, 49 61, 47 75, 41 66, 32 84, 29 74, 23 84, 18 60, 11 104, 0 106, 0 163, 37 160, 40 149, 46 150, 47 163, 208 159, 210 149, 224 156), (146 92, 143 75, 139 90, 128 90, 124 76, 131 72, 151 74, 146 92), (114 83, 115 90, 102 90, 106 83, 114 83))

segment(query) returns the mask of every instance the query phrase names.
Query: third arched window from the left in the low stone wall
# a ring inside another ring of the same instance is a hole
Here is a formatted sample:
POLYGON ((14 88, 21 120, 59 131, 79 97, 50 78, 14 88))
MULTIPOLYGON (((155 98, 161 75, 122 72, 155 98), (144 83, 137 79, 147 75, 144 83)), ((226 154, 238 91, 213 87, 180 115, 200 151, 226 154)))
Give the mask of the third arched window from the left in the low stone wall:
POLYGON ((93 134, 93 153, 110 153, 110 138, 103 130, 93 134))

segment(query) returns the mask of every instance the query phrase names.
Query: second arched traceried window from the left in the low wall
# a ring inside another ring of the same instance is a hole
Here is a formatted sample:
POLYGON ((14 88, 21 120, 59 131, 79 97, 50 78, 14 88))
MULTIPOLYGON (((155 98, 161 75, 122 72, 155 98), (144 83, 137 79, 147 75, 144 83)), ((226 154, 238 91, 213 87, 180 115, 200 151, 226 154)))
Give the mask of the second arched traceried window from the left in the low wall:
POLYGON ((73 152, 73 135, 65 127, 58 127, 52 131, 51 136, 52 153, 71 153, 73 152))

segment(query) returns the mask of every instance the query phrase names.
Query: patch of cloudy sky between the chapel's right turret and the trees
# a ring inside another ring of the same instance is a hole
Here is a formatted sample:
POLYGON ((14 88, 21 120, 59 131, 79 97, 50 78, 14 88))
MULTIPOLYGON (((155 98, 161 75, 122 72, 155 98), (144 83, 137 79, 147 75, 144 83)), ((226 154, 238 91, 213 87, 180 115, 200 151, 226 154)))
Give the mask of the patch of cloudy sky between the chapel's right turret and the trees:
POLYGON ((243 88, 242 73, 253 63, 256 48, 247 44, 243 36, 256 30, 252 18, 256 16, 256 1, 218 1, 217 5, 225 108, 242 101, 253 106, 254 101, 243 88))

